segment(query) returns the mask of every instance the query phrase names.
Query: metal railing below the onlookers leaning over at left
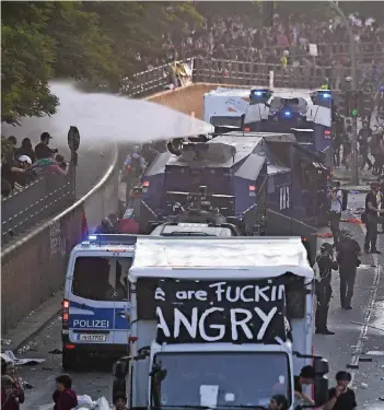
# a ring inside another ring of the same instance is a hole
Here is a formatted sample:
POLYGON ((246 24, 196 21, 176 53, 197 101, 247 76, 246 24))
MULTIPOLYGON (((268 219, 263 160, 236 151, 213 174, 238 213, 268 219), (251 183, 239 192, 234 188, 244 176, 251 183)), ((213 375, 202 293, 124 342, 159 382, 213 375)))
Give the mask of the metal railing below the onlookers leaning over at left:
POLYGON ((70 176, 45 175, 1 200, 1 245, 39 222, 55 216, 74 201, 70 176))

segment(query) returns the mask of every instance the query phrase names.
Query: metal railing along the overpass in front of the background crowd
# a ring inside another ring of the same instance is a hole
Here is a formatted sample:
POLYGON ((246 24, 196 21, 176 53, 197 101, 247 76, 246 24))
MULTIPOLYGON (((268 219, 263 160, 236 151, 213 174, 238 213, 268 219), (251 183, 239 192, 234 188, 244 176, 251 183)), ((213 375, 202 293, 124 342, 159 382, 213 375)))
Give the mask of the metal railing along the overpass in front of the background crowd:
MULTIPOLYGON (((322 63, 322 56, 333 56, 334 58, 349 59, 350 48, 349 44, 318 44, 315 61, 322 63)), ((244 47, 243 47, 244 48, 244 47)), ((281 50, 287 47, 270 46, 266 49, 281 50)), ((295 57, 309 56, 306 50, 301 47, 288 47, 293 50, 291 54, 292 60, 295 57)), ((235 51, 237 49, 229 49, 235 51)), ((358 43, 358 78, 361 78, 366 66, 372 66, 372 61, 376 63, 384 63, 384 45, 379 43, 358 43)), ((287 70, 281 68, 281 65, 260 62, 259 60, 242 61, 238 58, 229 60, 213 59, 207 57, 193 57, 178 62, 194 61, 194 82, 216 82, 216 83, 231 83, 233 85, 269 85, 269 74, 274 71, 275 86, 291 86, 303 89, 315 89, 319 86, 319 82, 325 78, 330 79, 333 90, 338 90, 341 79, 350 75, 351 70, 341 65, 341 62, 334 63, 329 67, 312 67, 312 66, 289 66, 287 70)), ((314 62, 314 61, 310 61, 314 62)), ((318 65, 319 66, 319 65, 318 65)), ((173 70, 171 63, 152 68, 150 70, 141 71, 131 78, 126 78, 121 81, 121 94, 133 98, 142 98, 150 94, 164 91, 166 85, 173 82, 173 70)))

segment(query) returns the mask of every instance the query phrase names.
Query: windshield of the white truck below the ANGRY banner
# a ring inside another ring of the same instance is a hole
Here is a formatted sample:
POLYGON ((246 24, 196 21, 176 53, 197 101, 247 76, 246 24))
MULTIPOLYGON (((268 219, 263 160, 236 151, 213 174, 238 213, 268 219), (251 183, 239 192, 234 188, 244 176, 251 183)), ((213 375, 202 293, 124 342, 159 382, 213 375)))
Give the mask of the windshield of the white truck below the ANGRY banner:
POLYGON ((268 408, 277 394, 290 401, 286 353, 158 353, 154 368, 158 371, 152 379, 152 406, 163 409, 207 406, 211 395, 218 408, 268 408))

